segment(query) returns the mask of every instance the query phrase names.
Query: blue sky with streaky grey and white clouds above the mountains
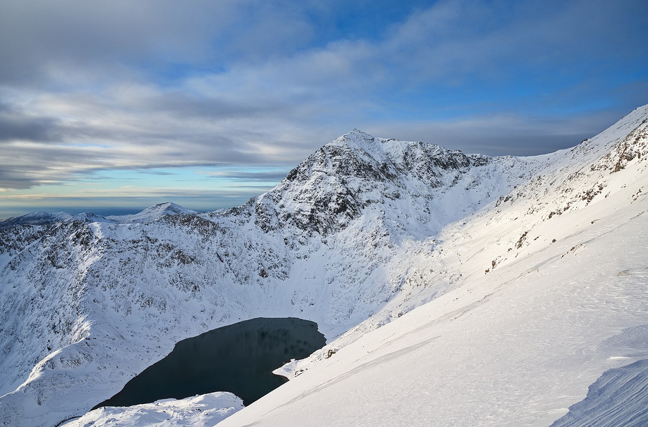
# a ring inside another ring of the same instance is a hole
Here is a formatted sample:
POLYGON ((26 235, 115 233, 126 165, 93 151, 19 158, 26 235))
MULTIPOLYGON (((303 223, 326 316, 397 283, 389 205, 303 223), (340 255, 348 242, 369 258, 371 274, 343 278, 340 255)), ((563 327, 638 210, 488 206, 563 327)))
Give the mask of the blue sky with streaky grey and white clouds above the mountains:
POLYGON ((245 203, 361 129, 580 143, 648 103, 645 0, 3 0, 0 219, 245 203))

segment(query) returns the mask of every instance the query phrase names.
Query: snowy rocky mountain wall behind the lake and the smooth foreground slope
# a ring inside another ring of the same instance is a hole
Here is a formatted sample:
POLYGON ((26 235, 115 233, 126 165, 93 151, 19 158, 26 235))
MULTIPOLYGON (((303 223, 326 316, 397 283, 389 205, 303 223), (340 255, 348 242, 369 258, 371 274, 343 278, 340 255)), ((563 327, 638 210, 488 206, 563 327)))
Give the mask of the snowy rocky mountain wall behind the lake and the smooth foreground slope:
POLYGON ((300 317, 351 342, 536 248, 533 224, 596 203, 619 173, 645 174, 647 117, 526 158, 354 130, 238 208, 0 223, 0 423, 78 417, 175 342, 243 319, 300 317), (485 215, 502 230, 488 251, 443 252, 444 229, 485 215))

